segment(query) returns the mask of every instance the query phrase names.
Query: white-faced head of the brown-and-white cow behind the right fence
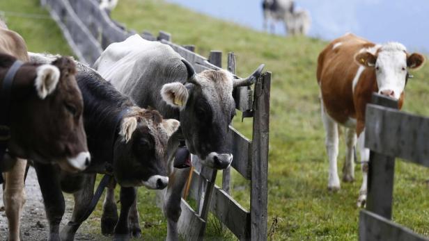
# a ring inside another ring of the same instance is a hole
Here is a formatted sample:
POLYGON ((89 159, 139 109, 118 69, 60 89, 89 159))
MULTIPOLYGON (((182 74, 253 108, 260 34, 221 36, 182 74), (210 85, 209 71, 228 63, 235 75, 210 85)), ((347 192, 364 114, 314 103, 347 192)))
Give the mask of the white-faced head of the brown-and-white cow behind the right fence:
POLYGON ((397 42, 366 49, 354 59, 359 65, 374 69, 378 92, 393 99, 400 99, 405 89, 408 70, 421 67, 425 61, 419 53, 409 55, 403 44, 397 42))

